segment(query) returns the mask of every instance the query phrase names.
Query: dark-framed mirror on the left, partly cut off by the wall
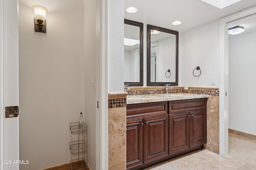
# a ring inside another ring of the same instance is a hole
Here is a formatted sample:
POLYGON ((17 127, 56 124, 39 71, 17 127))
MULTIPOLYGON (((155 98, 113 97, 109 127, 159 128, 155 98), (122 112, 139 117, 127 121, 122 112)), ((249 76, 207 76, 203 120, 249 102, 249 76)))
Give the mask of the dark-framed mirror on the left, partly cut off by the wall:
POLYGON ((124 19, 124 84, 143 86, 143 23, 124 19))

